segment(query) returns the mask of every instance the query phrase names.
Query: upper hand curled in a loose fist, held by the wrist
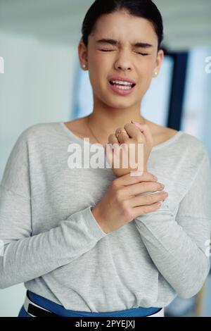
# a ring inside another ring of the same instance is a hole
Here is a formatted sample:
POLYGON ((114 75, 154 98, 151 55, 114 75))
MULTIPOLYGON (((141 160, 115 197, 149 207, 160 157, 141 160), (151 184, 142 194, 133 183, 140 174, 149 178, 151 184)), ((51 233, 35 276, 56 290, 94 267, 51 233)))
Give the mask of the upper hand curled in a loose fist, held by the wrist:
POLYGON ((110 146, 115 144, 113 149, 105 149, 105 154, 108 163, 112 165, 113 173, 117 177, 127 173, 134 173, 137 170, 141 172, 147 171, 148 157, 153 148, 153 137, 147 124, 127 123, 124 125, 124 128, 118 127, 115 134, 108 136, 108 143, 110 146), (120 133, 118 134, 118 132, 120 133), (121 144, 123 144, 123 148, 121 148, 121 144), (138 148, 139 144, 143 144, 143 149, 138 148), (130 151, 135 156, 135 160, 129 159, 130 151), (140 151, 143 151, 141 155, 140 151), (135 165, 137 166, 134 168, 135 165))

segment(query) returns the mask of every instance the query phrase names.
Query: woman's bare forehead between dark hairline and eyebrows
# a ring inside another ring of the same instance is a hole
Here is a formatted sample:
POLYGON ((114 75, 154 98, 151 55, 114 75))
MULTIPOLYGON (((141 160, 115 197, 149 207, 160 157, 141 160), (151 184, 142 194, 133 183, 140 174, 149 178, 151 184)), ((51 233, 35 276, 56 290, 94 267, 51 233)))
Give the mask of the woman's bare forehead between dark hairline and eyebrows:
POLYGON ((106 15, 101 15, 96 21, 91 32, 92 39, 100 37, 118 39, 122 42, 125 39, 135 43, 140 39, 143 42, 158 42, 153 23, 146 18, 130 15, 127 11, 117 11, 106 15))

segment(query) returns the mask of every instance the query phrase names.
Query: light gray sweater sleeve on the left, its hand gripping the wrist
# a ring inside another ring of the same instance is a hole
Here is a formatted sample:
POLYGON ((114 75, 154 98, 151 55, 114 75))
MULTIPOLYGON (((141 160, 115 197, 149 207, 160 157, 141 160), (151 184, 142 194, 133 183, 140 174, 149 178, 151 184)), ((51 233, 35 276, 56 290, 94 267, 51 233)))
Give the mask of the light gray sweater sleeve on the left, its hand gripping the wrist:
POLYGON ((107 234, 87 206, 32 236, 27 142, 21 135, 0 185, 0 288, 40 277, 74 261, 107 234))

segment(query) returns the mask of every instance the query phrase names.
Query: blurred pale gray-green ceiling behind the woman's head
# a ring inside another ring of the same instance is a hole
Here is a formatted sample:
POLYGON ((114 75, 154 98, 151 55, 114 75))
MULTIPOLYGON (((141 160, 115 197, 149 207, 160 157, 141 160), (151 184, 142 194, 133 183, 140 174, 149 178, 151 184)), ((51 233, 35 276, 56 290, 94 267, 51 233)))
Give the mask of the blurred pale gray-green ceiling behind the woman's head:
MULTIPOLYGON (((102 0, 103 1, 103 0, 102 0)), ((0 31, 78 44, 93 0, 0 0, 0 31)), ((211 45, 211 0, 154 0, 162 13, 171 51, 211 45)))

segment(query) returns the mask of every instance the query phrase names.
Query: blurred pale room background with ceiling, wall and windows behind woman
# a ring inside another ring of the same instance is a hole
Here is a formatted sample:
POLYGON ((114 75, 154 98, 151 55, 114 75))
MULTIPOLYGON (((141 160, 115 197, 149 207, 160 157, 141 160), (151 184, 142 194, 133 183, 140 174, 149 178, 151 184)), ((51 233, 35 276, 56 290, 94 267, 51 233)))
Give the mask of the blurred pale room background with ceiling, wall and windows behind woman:
MULTIPOLYGON (((93 2, 0 0, 0 181, 27 127, 92 112, 77 45, 93 2)), ((143 116, 197 137, 211 159, 211 0, 154 2, 164 20, 165 61, 143 99, 143 116)), ((25 292, 23 284, 0 289, 0 316, 18 316, 25 292)), ((211 317, 211 274, 196 296, 174 299, 165 316, 211 317)))

